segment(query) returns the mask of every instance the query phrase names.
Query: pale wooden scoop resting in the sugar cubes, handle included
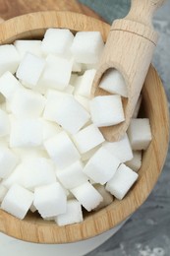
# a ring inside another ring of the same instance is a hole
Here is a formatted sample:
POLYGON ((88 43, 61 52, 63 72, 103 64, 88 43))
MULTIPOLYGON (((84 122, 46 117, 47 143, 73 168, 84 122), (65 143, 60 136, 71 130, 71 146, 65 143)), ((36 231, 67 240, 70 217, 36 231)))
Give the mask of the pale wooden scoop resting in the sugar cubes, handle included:
POLYGON ((98 86, 103 74, 108 69, 115 68, 125 79, 128 97, 123 98, 125 121, 100 128, 107 141, 119 140, 128 129, 158 38, 157 32, 153 30, 151 18, 163 2, 132 0, 128 16, 114 21, 111 26, 93 81, 91 96, 108 95, 98 86))

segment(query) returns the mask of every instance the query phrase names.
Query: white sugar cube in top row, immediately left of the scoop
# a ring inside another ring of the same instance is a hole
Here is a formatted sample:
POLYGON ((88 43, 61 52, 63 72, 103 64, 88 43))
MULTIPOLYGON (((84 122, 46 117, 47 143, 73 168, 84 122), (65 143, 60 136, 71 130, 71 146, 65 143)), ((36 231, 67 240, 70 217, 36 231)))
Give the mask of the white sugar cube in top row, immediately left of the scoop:
POLYGON ((100 32, 77 32, 71 47, 76 61, 96 63, 102 53, 104 42, 100 32))

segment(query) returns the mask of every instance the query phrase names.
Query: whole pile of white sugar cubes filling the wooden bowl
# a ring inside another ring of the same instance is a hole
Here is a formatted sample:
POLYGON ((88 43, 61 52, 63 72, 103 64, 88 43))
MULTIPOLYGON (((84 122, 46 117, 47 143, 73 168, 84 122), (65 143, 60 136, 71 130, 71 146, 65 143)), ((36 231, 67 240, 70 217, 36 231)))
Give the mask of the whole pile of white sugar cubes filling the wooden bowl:
POLYGON ((151 141, 149 120, 137 118, 128 133, 106 142, 98 127, 124 121, 122 75, 109 69, 90 98, 104 42, 100 32, 49 29, 42 40, 0 46, 0 204, 23 220, 38 212, 58 225, 83 221, 122 200, 151 141))

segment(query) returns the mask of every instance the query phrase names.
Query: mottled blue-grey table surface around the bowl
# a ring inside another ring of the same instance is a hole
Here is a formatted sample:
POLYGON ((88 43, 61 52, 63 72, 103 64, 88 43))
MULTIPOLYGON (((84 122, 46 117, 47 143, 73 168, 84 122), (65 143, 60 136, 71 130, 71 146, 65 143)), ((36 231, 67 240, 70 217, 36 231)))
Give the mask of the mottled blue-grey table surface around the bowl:
MULTIPOLYGON (((108 23, 124 17, 127 0, 81 0, 108 23)), ((160 38, 153 64, 170 102, 170 0, 157 11, 153 24, 160 38)), ((170 256, 170 149, 152 193, 114 236, 86 256, 170 256)))

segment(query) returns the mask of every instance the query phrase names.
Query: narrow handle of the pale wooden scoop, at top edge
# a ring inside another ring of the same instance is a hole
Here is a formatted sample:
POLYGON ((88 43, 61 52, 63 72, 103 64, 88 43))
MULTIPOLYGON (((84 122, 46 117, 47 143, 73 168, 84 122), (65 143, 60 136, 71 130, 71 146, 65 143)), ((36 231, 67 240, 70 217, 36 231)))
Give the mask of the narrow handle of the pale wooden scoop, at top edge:
POLYGON ((165 0, 131 0, 130 12, 124 19, 152 27, 151 19, 153 13, 164 1, 165 0))

